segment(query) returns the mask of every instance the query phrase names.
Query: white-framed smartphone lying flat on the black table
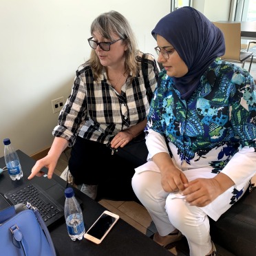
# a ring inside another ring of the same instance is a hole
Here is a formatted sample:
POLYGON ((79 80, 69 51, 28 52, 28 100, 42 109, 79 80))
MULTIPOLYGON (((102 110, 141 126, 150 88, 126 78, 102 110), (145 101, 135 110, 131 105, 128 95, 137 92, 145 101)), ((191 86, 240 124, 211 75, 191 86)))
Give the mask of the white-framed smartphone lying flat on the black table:
POLYGON ((92 224, 87 230, 84 237, 95 244, 100 244, 106 237, 107 233, 113 228, 114 224, 118 221, 119 216, 110 211, 104 211, 98 220, 92 224))

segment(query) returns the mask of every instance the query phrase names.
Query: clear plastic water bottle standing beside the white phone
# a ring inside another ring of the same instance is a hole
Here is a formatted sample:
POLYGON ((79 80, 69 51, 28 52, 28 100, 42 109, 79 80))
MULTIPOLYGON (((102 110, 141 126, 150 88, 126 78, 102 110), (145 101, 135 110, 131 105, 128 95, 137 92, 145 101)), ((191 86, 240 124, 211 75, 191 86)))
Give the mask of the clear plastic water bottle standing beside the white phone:
POLYGON ((67 233, 73 241, 76 239, 81 240, 85 234, 85 224, 83 223, 81 207, 74 196, 72 188, 65 189, 65 198, 64 213, 67 233))

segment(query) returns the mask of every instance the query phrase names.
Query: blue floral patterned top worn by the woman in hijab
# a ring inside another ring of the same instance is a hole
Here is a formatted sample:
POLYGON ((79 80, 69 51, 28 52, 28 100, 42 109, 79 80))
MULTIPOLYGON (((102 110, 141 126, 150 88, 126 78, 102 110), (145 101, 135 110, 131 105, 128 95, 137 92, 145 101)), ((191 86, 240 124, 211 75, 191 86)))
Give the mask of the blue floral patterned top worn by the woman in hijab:
POLYGON ((217 58, 186 101, 180 98, 173 79, 162 70, 151 102, 147 134, 150 129, 166 138, 172 145, 171 155, 179 158, 180 164, 201 161, 198 167, 210 165, 214 173, 220 172, 239 148, 256 152, 253 77, 217 58))

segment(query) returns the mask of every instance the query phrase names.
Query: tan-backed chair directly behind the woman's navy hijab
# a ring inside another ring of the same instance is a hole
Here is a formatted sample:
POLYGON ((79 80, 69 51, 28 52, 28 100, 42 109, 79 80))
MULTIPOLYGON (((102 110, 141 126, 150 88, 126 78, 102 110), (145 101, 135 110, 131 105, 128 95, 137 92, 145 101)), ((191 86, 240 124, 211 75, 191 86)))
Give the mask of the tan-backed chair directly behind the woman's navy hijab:
POLYGON ((239 22, 213 22, 213 24, 222 30, 225 39, 226 52, 222 57, 224 61, 231 63, 240 63, 242 67, 246 60, 250 58, 250 67, 253 63, 253 53, 243 52, 241 50, 241 23, 239 22))

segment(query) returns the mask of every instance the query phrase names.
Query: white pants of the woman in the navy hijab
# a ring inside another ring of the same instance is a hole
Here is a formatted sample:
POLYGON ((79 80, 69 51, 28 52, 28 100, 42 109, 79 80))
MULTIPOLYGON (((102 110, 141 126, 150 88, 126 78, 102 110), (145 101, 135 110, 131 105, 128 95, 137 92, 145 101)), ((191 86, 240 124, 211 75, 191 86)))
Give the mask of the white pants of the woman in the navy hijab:
POLYGON ((190 255, 207 255, 212 248, 208 216, 200 207, 190 206, 182 198, 169 197, 160 179, 161 174, 156 171, 143 171, 135 173, 131 182, 158 233, 165 236, 177 228, 189 243, 190 255))

